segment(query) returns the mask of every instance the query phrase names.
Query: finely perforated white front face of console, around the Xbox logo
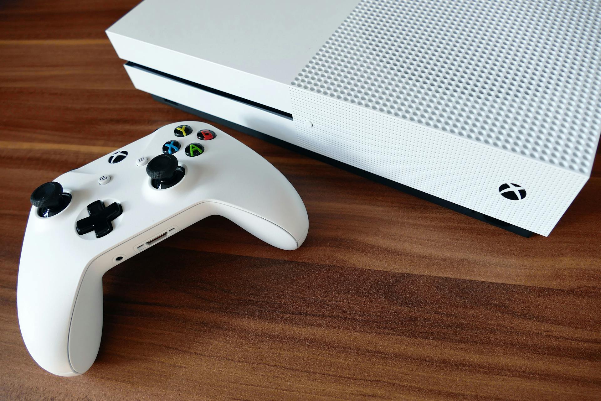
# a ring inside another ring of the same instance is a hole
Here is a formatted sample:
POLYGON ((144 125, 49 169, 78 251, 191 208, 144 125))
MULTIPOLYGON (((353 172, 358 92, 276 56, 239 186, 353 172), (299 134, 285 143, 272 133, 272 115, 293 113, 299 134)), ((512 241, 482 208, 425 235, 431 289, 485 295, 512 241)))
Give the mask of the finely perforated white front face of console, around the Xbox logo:
POLYGON ((302 147, 538 234, 549 234, 588 178, 311 91, 290 95, 302 147), (503 197, 504 183, 526 197, 503 197))

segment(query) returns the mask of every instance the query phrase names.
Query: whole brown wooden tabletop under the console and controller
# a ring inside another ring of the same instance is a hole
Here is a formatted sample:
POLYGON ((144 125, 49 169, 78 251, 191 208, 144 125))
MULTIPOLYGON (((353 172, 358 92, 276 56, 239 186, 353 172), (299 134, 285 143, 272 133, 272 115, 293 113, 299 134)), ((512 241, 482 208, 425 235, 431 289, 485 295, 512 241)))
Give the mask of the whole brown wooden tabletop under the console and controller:
POLYGON ((0 5, 1 400, 601 399, 599 154, 526 239, 221 126, 296 187, 304 245, 204 219, 105 275, 85 375, 40 369, 16 315, 29 194, 195 119, 136 91, 106 38, 137 1, 0 5))

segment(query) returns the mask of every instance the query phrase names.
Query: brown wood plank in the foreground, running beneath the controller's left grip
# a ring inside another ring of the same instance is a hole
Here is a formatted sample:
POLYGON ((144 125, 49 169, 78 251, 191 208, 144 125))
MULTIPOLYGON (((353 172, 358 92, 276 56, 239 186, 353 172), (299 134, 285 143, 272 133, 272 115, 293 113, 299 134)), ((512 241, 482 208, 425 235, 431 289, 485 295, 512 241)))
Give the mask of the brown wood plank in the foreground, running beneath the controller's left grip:
MULTIPOLYGON (((48 398, 93 400, 107 385, 126 399, 600 395, 595 293, 227 256, 182 242, 194 237, 178 233, 106 276, 103 343, 84 376, 41 372, 3 308, 8 394, 23 394, 25 382, 48 398)), ((14 305, 13 287, 1 293, 14 305)))

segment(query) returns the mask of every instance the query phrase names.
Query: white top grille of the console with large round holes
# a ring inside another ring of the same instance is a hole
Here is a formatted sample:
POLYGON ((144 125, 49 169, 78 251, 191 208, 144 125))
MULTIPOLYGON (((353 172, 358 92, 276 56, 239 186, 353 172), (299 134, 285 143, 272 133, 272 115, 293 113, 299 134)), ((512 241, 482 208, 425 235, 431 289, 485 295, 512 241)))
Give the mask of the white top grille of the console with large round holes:
POLYGON ((590 174, 600 16, 599 0, 362 0, 291 84, 590 174))

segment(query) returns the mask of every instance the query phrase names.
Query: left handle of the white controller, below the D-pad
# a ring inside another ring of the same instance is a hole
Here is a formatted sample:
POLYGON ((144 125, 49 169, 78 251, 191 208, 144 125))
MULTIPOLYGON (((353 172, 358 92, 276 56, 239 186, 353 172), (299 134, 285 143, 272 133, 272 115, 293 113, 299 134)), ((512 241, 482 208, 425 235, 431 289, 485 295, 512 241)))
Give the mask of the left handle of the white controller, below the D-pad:
MULTIPOLYGON (((23 249, 30 244, 26 238, 23 249)), ((23 341, 35 362, 48 372, 81 375, 93 364, 100 346, 102 272, 88 266, 82 277, 85 262, 76 274, 70 266, 59 265, 58 258, 48 263, 41 260, 44 256, 25 252, 21 257, 17 314, 23 341)))

